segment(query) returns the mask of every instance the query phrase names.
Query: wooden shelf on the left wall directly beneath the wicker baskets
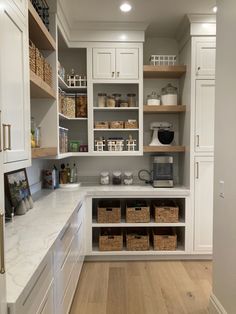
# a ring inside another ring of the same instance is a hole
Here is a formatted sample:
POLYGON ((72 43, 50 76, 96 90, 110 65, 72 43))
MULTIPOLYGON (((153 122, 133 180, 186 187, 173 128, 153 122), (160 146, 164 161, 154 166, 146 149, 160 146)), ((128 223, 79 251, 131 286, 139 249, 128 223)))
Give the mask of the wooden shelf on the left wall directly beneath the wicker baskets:
POLYGON ((31 98, 53 98, 56 99, 56 92, 38 75, 30 71, 30 97, 31 98))

